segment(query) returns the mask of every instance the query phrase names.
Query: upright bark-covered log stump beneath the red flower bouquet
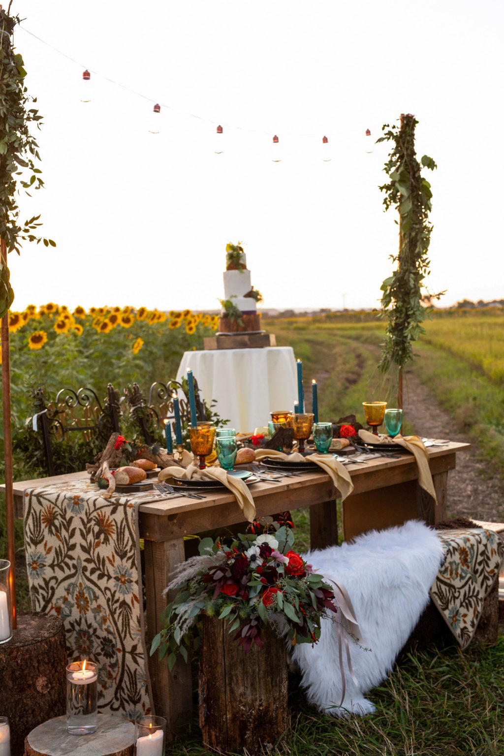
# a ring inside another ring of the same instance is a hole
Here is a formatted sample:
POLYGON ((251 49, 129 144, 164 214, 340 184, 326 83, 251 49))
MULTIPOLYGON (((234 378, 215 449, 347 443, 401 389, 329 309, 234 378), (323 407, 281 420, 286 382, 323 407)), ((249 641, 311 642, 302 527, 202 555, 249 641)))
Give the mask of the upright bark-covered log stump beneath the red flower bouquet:
POLYGON ((199 727, 216 751, 261 754, 287 727, 285 641, 264 630, 264 647, 246 655, 223 620, 203 618, 199 727))

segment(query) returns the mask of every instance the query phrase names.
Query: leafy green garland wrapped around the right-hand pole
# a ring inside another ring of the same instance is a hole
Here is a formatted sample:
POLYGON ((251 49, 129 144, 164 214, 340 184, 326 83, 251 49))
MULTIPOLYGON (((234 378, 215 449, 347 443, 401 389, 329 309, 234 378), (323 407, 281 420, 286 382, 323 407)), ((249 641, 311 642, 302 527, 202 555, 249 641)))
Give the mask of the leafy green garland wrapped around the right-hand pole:
MULTIPOLYGON (((390 181, 379 187, 385 192, 385 210, 394 207, 399 212, 399 251, 391 255, 397 263, 393 274, 386 278, 381 290, 380 317, 388 318, 387 336, 382 349, 379 368, 388 373, 392 365, 400 368, 413 360, 412 342, 425 333, 422 322, 431 307, 422 306, 422 287, 429 274, 428 246, 432 225, 428 222, 431 211, 431 184, 422 178, 422 166, 433 171, 437 166, 431 157, 424 155, 420 163, 415 153, 415 127, 418 121, 410 113, 401 116, 400 127, 382 127, 385 135, 377 141, 391 141, 393 149, 385 163, 390 181)), ((397 221, 395 221, 397 223, 397 221)), ((439 299, 441 294, 431 294, 439 299)))

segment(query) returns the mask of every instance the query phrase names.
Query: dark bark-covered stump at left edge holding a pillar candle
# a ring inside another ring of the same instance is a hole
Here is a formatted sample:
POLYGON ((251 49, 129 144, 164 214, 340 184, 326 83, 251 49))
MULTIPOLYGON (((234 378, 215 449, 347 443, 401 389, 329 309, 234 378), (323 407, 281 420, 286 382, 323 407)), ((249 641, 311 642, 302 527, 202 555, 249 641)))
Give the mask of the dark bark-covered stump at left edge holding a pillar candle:
POLYGON ((17 630, 0 646, 0 712, 11 725, 12 756, 26 735, 66 706, 66 646, 56 615, 20 612, 17 630))

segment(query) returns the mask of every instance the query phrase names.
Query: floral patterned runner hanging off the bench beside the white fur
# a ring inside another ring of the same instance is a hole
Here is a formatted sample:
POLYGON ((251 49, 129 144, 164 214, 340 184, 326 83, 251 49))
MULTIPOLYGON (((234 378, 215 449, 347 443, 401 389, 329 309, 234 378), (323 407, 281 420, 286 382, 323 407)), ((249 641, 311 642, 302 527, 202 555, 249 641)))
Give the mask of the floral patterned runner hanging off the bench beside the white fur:
POLYGON ((431 587, 431 599, 465 649, 499 574, 504 546, 494 531, 483 528, 439 531, 438 536, 446 559, 431 587))

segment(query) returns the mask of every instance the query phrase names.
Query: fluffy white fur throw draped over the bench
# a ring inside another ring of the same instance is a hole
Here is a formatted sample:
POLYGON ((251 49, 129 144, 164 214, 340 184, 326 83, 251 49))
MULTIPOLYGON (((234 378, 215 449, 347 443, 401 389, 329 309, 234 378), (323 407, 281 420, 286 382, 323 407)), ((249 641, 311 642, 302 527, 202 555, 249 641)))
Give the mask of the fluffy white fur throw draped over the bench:
MULTIPOLYGON (((370 531, 354 543, 312 551, 304 558, 325 578, 348 590, 363 635, 364 651, 348 637, 356 686, 344 657, 346 692, 342 706, 342 676, 335 626, 322 622, 319 643, 301 643, 292 657, 301 668, 301 685, 308 700, 326 714, 345 717, 369 714, 375 706, 363 694, 379 685, 394 665, 423 609, 443 560, 436 531, 410 520, 399 527, 370 531)), ((345 630, 342 631, 345 634, 345 630)))

